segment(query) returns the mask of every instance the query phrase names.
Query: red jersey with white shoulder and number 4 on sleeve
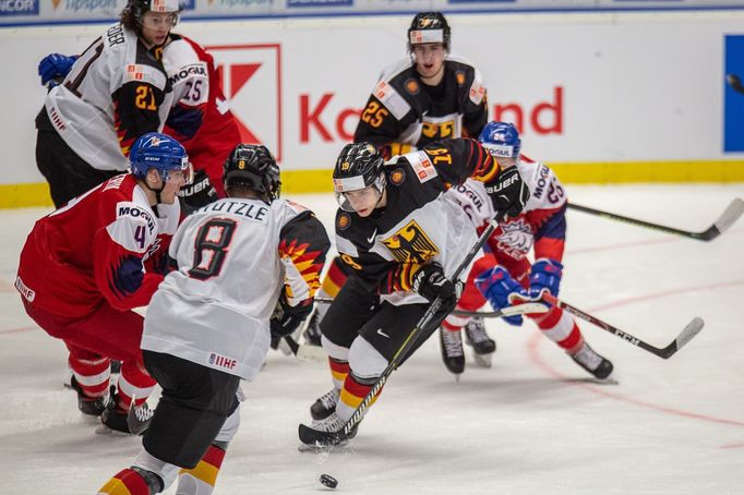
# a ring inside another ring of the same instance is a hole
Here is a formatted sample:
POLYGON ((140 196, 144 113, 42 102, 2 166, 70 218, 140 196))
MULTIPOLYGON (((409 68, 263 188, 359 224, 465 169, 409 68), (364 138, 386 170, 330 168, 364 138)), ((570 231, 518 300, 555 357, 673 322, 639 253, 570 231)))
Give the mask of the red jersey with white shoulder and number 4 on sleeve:
POLYGON ((34 225, 21 252, 15 287, 33 305, 83 317, 104 301, 143 306, 163 280, 180 207, 158 217, 134 176, 117 176, 34 225))

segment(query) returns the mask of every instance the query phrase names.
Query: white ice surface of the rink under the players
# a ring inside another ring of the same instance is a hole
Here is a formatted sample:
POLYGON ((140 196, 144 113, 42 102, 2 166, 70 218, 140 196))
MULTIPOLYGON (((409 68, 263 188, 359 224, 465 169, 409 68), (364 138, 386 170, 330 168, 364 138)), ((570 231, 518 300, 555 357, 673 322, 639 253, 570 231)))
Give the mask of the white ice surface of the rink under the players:
MULTIPOLYGON (((744 197, 744 184, 568 192, 579 204, 703 230, 744 197)), ((295 200, 332 227, 331 195, 295 200)), ((12 288, 43 214, 0 212, 0 494, 93 494, 129 466, 140 439, 97 435, 81 419, 62 387, 64 347, 12 288)), ((355 494, 744 493, 744 219, 709 243, 578 212, 568 221, 562 299, 656 346, 694 316, 703 331, 664 361, 579 322, 615 365, 619 384, 598 385, 531 323, 490 319, 492 369, 470 361, 455 383, 431 339, 393 374, 357 438, 329 455, 297 449, 297 425, 328 389, 327 370, 272 352, 243 385, 243 423, 215 493, 327 491, 321 473, 355 494)))

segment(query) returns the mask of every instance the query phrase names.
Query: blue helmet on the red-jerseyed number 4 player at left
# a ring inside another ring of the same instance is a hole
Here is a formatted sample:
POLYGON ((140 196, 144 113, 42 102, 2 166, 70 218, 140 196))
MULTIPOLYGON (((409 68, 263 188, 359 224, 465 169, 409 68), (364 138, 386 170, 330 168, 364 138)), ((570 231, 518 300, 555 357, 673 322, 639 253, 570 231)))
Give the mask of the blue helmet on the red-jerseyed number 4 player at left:
POLYGON ((187 184, 191 183, 192 169, 189 156, 181 144, 166 134, 148 132, 140 136, 129 153, 129 165, 137 179, 144 180, 152 168, 160 172, 164 182, 171 170, 182 171, 187 184))

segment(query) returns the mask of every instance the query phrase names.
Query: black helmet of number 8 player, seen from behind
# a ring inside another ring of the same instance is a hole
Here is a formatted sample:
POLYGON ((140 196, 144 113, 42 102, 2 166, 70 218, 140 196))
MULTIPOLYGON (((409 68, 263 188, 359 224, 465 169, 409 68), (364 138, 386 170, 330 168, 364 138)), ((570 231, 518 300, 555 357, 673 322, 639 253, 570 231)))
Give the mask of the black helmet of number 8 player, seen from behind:
POLYGON ((239 144, 223 166, 225 189, 243 186, 263 195, 266 203, 279 197, 279 166, 268 148, 261 144, 239 144))

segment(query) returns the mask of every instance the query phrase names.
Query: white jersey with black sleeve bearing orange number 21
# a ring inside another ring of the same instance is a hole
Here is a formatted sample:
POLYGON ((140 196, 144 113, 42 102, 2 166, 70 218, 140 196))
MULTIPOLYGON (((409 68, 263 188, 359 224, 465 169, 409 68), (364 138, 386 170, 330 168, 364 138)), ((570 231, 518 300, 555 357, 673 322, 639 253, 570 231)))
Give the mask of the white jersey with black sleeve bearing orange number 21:
POLYGON ((49 120, 91 167, 128 170, 125 157, 134 141, 163 130, 172 96, 157 53, 115 24, 47 94, 49 120))

